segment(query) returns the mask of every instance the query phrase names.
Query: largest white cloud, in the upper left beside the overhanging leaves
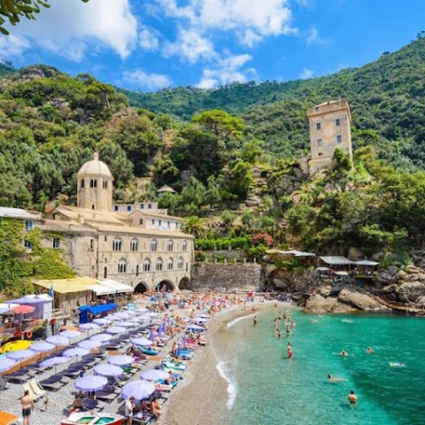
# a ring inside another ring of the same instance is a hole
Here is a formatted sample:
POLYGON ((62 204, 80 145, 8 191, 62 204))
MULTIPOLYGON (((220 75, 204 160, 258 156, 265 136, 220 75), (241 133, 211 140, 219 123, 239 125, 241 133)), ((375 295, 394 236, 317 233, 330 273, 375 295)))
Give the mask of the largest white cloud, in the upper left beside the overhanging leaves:
POLYGON ((78 61, 92 46, 89 42, 100 42, 126 58, 135 48, 137 20, 129 0, 90 0, 87 4, 62 0, 42 10, 35 20, 22 20, 13 34, 25 41, 16 54, 38 45, 78 61))

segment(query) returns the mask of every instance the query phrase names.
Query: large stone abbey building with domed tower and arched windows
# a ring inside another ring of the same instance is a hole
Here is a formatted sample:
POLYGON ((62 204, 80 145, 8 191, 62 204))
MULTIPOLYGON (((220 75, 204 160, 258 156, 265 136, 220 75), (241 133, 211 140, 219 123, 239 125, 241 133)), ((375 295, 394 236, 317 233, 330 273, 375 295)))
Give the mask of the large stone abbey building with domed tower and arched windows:
POLYGON ((43 245, 62 250, 79 276, 112 279, 136 292, 158 285, 170 290, 189 287, 193 237, 179 230, 180 218, 151 202, 114 205, 112 174, 97 153, 77 177, 77 206, 60 205, 44 217, 2 210, 15 210, 14 218, 25 220, 28 231, 41 228, 49 235, 43 245))

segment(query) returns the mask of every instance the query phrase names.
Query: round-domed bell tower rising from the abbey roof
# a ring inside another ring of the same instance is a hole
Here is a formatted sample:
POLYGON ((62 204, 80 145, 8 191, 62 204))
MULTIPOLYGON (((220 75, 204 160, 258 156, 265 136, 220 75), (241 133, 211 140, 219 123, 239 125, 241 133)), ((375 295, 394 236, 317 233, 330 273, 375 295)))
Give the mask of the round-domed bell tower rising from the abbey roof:
POLYGON ((77 174, 77 206, 89 210, 112 212, 112 174, 95 153, 77 174))

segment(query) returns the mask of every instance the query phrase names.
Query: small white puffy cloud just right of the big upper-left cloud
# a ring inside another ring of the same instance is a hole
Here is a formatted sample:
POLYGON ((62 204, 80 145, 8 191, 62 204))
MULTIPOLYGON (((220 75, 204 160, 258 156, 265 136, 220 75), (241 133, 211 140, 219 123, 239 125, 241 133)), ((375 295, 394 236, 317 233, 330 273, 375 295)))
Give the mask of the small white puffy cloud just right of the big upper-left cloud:
POLYGON ((178 56, 195 63, 200 58, 214 58, 213 43, 201 35, 196 28, 179 28, 177 40, 175 42, 166 42, 163 50, 164 56, 178 56))

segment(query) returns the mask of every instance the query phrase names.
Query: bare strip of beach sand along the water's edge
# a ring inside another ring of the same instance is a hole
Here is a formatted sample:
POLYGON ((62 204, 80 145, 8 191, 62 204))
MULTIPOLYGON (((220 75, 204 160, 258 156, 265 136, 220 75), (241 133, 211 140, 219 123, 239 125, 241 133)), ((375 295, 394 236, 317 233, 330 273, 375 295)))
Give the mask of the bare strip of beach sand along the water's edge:
MULTIPOLYGON (((255 303, 255 313, 260 313, 274 305, 274 302, 255 303)), ((208 416, 208 425, 227 423, 228 406, 232 400, 231 383, 220 371, 220 361, 214 352, 214 345, 220 343, 220 334, 226 331, 231 321, 255 314, 247 305, 246 310, 240 306, 232 307, 213 317, 206 333, 208 345, 199 347, 194 359, 188 362, 188 372, 184 376, 180 388, 176 388, 164 405, 158 425, 201 425, 208 416), (230 400, 229 400, 230 398, 230 400)))

